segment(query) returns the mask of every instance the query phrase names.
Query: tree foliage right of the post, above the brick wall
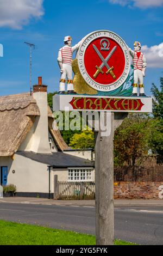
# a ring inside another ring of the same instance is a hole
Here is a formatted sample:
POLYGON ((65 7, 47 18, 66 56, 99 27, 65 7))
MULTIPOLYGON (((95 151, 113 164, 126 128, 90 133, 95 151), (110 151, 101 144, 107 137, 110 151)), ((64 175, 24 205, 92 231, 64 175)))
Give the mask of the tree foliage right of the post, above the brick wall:
POLYGON ((163 154, 163 77, 160 90, 152 84, 153 117, 129 114, 115 131, 115 164, 140 164, 149 154, 163 154))

